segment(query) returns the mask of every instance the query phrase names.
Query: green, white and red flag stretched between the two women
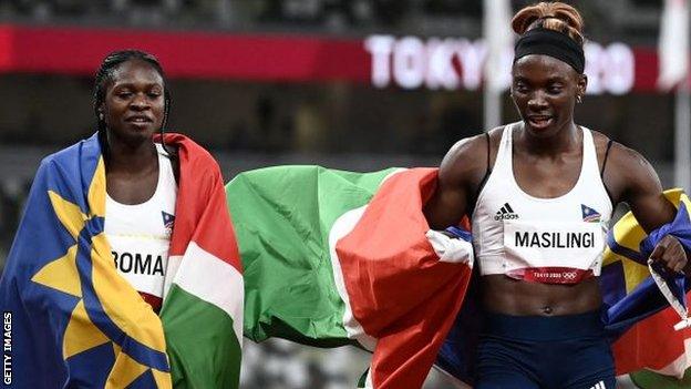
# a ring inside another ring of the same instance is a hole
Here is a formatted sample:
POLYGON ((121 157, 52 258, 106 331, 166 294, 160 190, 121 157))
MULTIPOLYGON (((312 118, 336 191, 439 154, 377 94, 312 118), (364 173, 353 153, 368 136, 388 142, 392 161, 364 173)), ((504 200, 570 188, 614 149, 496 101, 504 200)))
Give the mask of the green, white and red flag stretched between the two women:
POLYGON ((279 166, 233 180, 245 336, 355 344, 373 352, 368 387, 421 387, 472 273, 471 244, 440 240, 422 214, 435 178, 279 166))

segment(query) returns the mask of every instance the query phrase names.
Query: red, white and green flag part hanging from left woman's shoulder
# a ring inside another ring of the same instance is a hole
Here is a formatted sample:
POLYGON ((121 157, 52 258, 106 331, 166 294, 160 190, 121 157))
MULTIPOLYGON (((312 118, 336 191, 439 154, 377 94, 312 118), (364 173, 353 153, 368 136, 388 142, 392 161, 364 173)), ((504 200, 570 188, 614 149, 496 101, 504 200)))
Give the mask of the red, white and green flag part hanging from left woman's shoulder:
POLYGON ((238 388, 243 345, 243 267, 212 155, 166 135, 181 161, 175 227, 161 320, 175 388, 238 388))

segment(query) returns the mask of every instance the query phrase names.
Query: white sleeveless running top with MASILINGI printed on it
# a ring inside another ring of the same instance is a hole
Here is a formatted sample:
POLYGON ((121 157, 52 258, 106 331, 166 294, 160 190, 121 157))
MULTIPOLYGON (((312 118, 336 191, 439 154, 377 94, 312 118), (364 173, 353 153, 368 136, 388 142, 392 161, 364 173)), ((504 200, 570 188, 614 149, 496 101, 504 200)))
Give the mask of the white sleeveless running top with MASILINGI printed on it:
POLYGON ((494 167, 473 212, 473 246, 482 275, 547 284, 599 276, 612 204, 600 177, 590 130, 582 127, 582 162, 565 195, 538 198, 516 183, 512 135, 505 126, 494 167))

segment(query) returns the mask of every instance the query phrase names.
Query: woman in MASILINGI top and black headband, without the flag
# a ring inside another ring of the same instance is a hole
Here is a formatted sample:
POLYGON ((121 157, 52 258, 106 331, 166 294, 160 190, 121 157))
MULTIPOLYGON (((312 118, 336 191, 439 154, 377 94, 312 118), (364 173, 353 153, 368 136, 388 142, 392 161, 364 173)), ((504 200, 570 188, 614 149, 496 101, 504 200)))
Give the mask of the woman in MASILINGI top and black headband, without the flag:
MULTIPOLYGON (((523 120, 454 145, 425 205, 432 228, 472 217, 486 317, 474 388, 615 388, 599 315, 604 228, 621 202, 647 232, 675 208, 641 155, 574 122, 587 86, 578 11, 542 2, 512 25, 523 120)), ((651 258, 691 273, 672 236, 651 258)))

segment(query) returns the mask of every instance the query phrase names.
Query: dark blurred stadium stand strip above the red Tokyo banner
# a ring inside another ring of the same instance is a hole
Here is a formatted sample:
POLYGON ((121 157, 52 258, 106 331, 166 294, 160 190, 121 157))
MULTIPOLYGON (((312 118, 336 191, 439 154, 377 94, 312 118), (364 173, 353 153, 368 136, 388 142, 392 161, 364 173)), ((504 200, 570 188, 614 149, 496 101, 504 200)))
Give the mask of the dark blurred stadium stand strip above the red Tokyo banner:
MULTIPOLYGON (((534 1, 515 0, 515 9, 534 1)), ((567 1, 568 2, 568 1, 567 1)), ((653 43, 661 0, 582 0, 591 35, 653 43)), ((415 34, 478 34, 477 0, 2 0, 0 21, 316 31, 361 34, 385 29, 415 34)))

